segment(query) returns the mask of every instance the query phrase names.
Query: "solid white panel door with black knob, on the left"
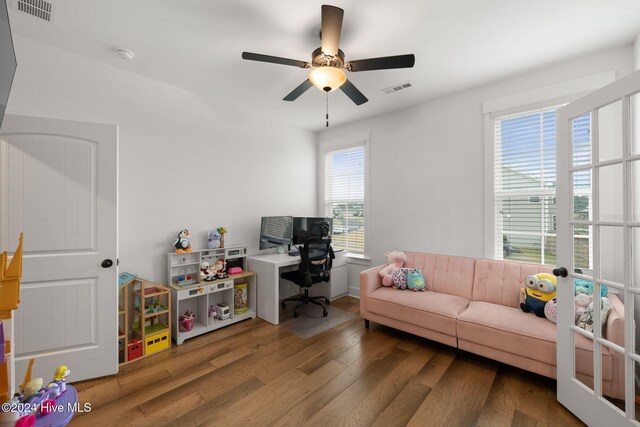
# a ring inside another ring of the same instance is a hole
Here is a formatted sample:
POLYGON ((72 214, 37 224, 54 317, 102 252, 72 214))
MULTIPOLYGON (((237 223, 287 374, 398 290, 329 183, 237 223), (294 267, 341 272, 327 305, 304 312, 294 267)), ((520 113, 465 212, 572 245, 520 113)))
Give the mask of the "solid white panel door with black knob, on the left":
POLYGON ((117 142, 115 125, 4 118, 0 250, 24 232, 18 381, 31 357, 45 379, 61 364, 72 381, 118 370, 117 142))

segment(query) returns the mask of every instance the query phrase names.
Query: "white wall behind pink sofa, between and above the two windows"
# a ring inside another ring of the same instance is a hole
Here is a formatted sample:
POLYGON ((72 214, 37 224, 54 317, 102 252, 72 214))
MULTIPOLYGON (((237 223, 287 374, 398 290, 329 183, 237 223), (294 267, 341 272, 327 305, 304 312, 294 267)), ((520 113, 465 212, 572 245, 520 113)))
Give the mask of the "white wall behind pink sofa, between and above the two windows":
POLYGON ((483 101, 612 69, 620 77, 632 58, 631 46, 612 49, 323 131, 320 147, 370 132, 371 265, 394 249, 483 257, 483 101))

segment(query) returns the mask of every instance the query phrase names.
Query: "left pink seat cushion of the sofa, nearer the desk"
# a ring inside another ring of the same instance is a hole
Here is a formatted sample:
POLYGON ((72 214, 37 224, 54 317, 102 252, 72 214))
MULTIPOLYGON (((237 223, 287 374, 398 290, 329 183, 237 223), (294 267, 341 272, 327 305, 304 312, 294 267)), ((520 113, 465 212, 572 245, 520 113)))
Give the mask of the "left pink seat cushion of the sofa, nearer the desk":
POLYGON ((400 291, 383 287, 369 294, 367 310, 381 316, 456 336, 456 318, 468 304, 468 300, 455 295, 431 291, 400 291))

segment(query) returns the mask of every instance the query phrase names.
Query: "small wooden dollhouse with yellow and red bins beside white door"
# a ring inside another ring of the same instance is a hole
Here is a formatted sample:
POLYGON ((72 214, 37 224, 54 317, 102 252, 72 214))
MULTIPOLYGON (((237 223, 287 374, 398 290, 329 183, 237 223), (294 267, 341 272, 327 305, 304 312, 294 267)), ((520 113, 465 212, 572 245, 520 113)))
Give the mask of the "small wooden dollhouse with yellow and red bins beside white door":
POLYGON ((171 347, 171 291, 130 273, 118 286, 118 358, 121 364, 171 347))

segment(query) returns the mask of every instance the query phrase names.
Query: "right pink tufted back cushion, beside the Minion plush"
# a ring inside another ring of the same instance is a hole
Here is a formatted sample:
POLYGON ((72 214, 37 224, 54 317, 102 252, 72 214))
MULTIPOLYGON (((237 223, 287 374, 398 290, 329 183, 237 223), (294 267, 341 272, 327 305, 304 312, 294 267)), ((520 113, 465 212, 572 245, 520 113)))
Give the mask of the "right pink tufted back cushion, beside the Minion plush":
POLYGON ((473 275, 471 300, 517 308, 520 288, 525 287, 525 277, 538 273, 551 274, 552 270, 552 267, 539 264, 478 259, 473 275))

